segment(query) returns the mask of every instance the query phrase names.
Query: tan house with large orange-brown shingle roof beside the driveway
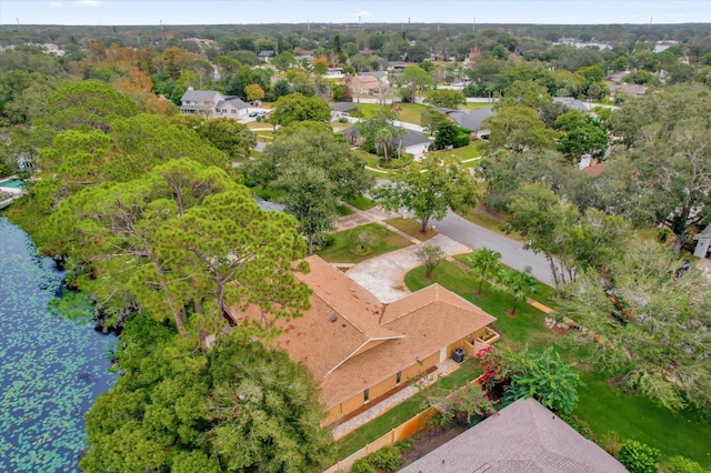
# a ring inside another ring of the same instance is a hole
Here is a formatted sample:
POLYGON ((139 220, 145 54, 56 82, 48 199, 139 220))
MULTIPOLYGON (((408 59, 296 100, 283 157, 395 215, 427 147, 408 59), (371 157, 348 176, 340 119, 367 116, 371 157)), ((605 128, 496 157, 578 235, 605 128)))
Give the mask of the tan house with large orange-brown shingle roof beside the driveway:
POLYGON ((385 304, 318 255, 306 261, 311 271, 294 274, 313 290, 311 309, 276 322, 276 345, 320 383, 324 424, 387 397, 454 349, 473 356, 487 346, 481 339, 495 319, 439 284, 385 304))

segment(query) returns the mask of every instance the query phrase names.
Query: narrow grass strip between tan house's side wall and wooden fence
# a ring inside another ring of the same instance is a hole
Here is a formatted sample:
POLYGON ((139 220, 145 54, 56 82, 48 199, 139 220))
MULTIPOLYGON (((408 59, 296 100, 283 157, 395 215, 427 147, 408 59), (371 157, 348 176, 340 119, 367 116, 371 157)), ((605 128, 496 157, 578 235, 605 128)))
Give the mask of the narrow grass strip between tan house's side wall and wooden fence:
MULTIPOLYGON (((463 386, 469 381, 475 380, 482 374, 482 369, 478 363, 478 360, 465 360, 459 370, 441 378, 437 383, 432 384, 428 390, 439 390, 444 392, 451 392, 454 389, 463 386)), ((420 392, 402 404, 397 405, 387 414, 373 419, 368 424, 354 430, 344 437, 336 442, 339 459, 346 459, 350 454, 359 451, 368 443, 379 439, 385 433, 390 432, 398 425, 415 416, 418 413, 425 409, 424 406, 424 392, 420 392)))

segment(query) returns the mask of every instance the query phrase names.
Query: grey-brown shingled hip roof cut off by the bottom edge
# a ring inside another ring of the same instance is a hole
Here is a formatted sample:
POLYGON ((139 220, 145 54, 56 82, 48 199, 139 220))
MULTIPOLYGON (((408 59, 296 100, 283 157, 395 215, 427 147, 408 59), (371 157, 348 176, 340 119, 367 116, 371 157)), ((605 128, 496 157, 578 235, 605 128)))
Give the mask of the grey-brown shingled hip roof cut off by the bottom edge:
POLYGON ((400 473, 623 473, 627 469, 543 407, 520 399, 400 473))

